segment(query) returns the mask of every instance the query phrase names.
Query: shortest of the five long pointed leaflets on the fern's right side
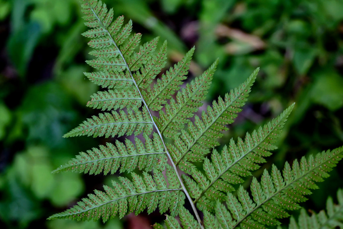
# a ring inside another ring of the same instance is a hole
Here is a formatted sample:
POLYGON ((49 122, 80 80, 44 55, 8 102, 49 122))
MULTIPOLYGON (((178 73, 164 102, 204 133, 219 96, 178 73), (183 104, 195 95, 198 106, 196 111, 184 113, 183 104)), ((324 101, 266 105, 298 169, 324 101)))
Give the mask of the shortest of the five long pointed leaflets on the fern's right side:
POLYGON ((180 88, 182 80, 185 80, 188 74, 189 64, 192 59, 194 47, 191 48, 182 58, 181 61, 174 64, 161 79, 157 79, 153 88, 148 88, 143 91, 142 95, 147 105, 152 110, 161 110, 162 105, 167 103, 167 99, 180 88))

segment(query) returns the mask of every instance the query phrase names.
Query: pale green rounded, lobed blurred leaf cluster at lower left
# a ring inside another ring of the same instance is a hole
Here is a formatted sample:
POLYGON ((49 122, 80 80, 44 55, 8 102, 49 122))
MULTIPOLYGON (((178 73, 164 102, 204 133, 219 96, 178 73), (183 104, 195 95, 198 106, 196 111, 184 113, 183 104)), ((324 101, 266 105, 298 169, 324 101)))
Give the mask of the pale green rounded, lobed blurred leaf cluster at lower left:
POLYGON ((64 206, 84 190, 79 173, 52 175, 51 152, 43 146, 30 146, 17 154, 13 170, 17 179, 38 199, 48 198, 56 206, 64 206))

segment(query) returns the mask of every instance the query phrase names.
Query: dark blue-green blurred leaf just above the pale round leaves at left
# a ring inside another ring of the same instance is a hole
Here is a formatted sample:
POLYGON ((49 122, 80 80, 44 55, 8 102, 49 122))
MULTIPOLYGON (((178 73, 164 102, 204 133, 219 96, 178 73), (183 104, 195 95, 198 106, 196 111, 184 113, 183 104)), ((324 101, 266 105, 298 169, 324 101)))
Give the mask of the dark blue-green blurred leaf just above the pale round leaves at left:
POLYGON ((28 128, 26 141, 40 141, 50 147, 62 144, 62 135, 75 117, 72 100, 61 86, 49 82, 29 89, 18 112, 28 128))

